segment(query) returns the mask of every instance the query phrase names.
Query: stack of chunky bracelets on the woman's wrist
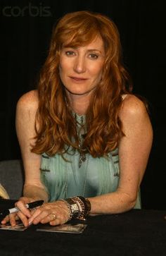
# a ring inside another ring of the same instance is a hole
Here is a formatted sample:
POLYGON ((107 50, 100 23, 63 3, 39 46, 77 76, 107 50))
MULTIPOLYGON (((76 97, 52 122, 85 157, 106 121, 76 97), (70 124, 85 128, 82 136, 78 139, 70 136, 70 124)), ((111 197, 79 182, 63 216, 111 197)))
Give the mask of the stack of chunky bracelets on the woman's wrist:
POLYGON ((69 219, 85 220, 91 211, 91 203, 82 196, 61 199, 69 210, 69 219))

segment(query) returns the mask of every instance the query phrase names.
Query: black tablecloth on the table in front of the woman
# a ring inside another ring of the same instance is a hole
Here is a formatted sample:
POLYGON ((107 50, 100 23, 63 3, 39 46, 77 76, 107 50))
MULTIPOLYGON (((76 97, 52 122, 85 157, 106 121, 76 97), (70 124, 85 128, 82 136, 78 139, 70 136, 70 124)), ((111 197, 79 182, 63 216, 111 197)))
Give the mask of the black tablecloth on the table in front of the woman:
POLYGON ((0 255, 166 255, 166 211, 89 217, 81 234, 0 231, 0 255))

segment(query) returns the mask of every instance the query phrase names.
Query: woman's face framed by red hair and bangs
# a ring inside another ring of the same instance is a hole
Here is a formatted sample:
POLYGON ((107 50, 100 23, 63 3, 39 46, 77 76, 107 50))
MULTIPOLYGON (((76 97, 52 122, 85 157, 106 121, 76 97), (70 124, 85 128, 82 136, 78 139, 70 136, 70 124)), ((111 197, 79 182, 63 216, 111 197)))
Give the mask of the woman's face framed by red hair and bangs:
POLYGON ((101 81, 104 47, 101 37, 84 47, 62 47, 60 79, 69 95, 89 95, 101 81))

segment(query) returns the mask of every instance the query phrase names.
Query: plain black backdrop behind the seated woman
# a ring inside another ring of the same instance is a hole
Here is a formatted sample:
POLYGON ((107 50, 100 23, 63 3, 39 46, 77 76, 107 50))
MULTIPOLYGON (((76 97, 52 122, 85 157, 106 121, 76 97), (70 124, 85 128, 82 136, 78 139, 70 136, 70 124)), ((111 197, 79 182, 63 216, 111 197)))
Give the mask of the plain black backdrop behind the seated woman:
POLYGON ((71 11, 97 11, 112 18, 120 30, 125 65, 134 93, 148 99, 154 141, 141 185, 146 209, 165 209, 165 85, 164 1, 2 1, 0 160, 20 158, 15 135, 18 98, 36 86, 53 24, 71 11))

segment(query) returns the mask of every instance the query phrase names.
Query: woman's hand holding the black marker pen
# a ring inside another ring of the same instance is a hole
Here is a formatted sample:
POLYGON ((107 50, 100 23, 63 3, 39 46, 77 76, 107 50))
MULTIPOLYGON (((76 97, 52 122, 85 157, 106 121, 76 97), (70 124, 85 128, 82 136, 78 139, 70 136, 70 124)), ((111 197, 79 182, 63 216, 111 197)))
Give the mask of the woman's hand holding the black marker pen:
POLYGON ((29 202, 34 202, 34 201, 35 201, 34 198, 20 197, 18 202, 15 202, 15 207, 18 207, 20 211, 7 215, 1 221, 1 224, 6 224, 8 221, 10 221, 11 226, 15 226, 16 221, 20 219, 23 222, 24 226, 29 226, 28 219, 32 216, 32 214, 30 210, 27 209, 27 207, 25 207, 25 205, 28 204, 29 202))

